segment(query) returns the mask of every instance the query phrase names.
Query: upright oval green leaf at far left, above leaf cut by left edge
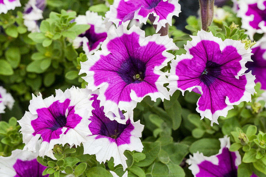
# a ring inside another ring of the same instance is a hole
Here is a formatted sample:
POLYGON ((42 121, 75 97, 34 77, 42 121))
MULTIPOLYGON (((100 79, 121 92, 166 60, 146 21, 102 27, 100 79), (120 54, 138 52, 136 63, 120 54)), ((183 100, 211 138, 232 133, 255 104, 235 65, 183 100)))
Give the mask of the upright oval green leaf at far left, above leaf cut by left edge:
POLYGON ((17 68, 20 63, 20 52, 18 47, 10 47, 5 51, 6 60, 13 68, 17 68))

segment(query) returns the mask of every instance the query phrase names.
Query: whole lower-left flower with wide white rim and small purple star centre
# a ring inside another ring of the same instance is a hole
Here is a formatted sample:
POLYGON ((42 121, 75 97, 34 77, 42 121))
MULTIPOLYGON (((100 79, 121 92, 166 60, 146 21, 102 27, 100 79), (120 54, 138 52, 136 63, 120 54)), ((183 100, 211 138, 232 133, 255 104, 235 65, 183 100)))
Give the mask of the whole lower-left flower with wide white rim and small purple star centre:
POLYGON ((24 149, 36 152, 36 142, 41 137, 39 155, 55 159, 53 147, 56 144, 80 145, 90 133, 89 116, 92 115, 92 101, 84 89, 72 87, 65 92, 56 90, 56 96, 43 99, 32 95, 29 111, 19 124, 24 149))

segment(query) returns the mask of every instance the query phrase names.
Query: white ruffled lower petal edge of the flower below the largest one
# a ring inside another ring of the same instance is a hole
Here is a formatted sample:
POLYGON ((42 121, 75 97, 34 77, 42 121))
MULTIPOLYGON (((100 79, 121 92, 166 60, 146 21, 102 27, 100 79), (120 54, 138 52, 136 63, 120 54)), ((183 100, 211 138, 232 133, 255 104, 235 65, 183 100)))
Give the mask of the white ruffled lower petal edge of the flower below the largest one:
POLYGON ((96 160, 98 162, 105 163, 106 160, 110 160, 111 157, 114 158, 114 166, 121 164, 123 169, 127 168, 126 156, 124 155, 125 150, 138 151, 142 152, 143 145, 140 141, 142 136, 142 131, 144 125, 140 124, 140 120, 133 122, 131 124, 134 126, 134 130, 130 132, 130 144, 123 144, 118 146, 116 142, 110 142, 109 138, 98 138, 95 139, 98 135, 88 136, 88 141, 83 144, 84 154, 96 155, 96 160))

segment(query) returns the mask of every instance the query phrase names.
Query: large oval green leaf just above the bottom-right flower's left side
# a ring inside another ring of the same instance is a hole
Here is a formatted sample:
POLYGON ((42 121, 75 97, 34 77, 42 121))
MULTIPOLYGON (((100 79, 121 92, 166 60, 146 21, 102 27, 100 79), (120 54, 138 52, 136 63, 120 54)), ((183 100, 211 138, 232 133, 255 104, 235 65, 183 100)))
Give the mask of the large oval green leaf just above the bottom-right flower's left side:
POLYGON ((202 138, 192 143, 190 153, 202 152, 205 156, 217 154, 220 149, 220 141, 215 138, 202 138))

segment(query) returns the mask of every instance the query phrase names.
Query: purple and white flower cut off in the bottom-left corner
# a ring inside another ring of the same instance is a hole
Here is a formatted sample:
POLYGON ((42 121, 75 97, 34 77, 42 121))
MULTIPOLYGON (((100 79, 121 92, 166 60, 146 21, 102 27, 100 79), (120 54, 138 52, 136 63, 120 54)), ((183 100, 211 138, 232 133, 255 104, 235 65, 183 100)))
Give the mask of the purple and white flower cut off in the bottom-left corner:
MULTIPOLYGON (((37 142, 40 149, 40 141, 37 142)), ((42 177, 45 166, 37 161, 38 153, 16 149, 11 156, 0 156, 0 176, 2 177, 42 177)), ((44 175, 48 177, 49 174, 44 175)))

